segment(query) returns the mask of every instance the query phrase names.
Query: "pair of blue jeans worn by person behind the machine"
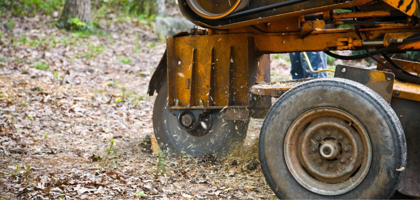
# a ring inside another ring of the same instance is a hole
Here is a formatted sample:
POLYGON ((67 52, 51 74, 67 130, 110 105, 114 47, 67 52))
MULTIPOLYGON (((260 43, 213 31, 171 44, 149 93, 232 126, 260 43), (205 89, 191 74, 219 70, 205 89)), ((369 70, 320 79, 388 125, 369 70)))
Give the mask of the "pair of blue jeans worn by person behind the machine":
MULTIPOLYGON (((326 54, 322 51, 319 52, 306 52, 313 70, 326 68, 326 54)), ((326 77, 326 71, 319 73, 310 72, 306 59, 301 52, 289 53, 291 63, 291 77, 293 79, 307 78, 307 77, 326 77)))

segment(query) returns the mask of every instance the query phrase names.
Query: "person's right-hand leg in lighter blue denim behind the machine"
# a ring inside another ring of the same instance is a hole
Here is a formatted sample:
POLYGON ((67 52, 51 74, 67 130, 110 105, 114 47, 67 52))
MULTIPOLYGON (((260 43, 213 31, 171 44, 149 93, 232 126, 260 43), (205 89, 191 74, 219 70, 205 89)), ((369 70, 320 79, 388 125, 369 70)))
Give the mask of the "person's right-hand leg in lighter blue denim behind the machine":
MULTIPOLYGON (((326 64, 326 54, 322 51, 319 52, 306 52, 307 57, 309 58, 310 64, 312 65, 313 70, 325 69, 326 64)), ((326 71, 319 73, 312 73, 307 65, 306 59, 303 53, 300 53, 300 62, 302 63, 303 76, 304 77, 326 77, 326 71)))

